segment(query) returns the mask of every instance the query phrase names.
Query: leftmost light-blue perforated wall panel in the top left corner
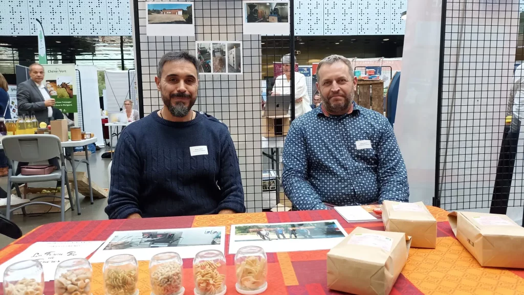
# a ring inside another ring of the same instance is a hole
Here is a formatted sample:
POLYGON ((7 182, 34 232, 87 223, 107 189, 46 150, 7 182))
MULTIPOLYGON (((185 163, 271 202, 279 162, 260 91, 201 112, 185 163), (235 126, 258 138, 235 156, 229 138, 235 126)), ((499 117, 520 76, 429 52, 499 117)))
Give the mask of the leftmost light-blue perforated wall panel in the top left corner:
POLYGON ((0 0, 0 35, 29 35, 27 0, 0 0))

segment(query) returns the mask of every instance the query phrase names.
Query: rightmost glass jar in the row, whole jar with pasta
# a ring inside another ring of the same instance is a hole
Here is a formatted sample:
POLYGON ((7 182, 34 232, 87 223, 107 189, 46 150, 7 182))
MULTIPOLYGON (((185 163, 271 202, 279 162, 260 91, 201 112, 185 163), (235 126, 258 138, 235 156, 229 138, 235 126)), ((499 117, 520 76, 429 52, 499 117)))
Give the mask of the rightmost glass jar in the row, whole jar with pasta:
POLYGON ((241 294, 260 294, 267 289, 267 256, 264 249, 246 246, 235 255, 236 290, 241 294))

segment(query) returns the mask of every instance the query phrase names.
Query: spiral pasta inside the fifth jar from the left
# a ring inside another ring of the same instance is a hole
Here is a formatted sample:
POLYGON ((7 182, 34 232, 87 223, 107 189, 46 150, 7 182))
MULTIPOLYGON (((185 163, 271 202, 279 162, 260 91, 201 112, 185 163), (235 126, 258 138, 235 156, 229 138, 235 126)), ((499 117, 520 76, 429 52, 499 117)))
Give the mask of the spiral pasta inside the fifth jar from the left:
POLYGON ((215 295, 223 291, 225 275, 221 275, 218 268, 220 263, 202 261, 193 266, 195 288, 200 295, 215 295))

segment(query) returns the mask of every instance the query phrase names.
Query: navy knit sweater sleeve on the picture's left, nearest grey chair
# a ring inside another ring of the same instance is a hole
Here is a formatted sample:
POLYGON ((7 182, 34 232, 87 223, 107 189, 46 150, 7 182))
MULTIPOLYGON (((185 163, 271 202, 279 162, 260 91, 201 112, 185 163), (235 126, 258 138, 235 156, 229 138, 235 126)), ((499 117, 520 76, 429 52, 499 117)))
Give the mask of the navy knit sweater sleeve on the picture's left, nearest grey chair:
POLYGON ((116 144, 111 167, 111 190, 105 207, 105 213, 110 219, 124 219, 134 213, 141 214, 138 191, 142 165, 133 141, 124 129, 116 144))

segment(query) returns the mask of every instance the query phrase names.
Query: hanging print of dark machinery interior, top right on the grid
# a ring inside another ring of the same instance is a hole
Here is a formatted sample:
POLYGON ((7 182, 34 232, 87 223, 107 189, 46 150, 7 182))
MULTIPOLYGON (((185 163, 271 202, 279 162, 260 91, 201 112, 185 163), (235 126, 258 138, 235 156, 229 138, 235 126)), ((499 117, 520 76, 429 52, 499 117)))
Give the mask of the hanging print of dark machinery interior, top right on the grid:
POLYGON ((289 1, 244 1, 246 35, 288 35, 289 1))

